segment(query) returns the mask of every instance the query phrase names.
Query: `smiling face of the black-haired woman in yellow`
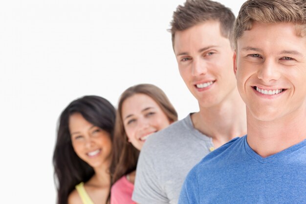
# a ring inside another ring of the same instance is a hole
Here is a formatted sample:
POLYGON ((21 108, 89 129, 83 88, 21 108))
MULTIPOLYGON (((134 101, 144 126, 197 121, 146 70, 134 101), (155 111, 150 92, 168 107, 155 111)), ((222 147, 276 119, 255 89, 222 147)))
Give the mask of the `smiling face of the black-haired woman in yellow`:
POLYGON ((89 123, 80 113, 69 117, 69 131, 75 153, 93 168, 109 165, 111 140, 108 132, 89 123))

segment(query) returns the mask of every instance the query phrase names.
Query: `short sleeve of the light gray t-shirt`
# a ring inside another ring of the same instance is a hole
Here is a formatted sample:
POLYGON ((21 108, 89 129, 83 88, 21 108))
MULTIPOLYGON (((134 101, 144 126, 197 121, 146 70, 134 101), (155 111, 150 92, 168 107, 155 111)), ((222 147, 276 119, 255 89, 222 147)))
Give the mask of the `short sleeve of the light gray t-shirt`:
POLYGON ((132 200, 138 204, 169 204, 166 193, 160 185, 154 161, 153 146, 146 141, 141 149, 132 200))

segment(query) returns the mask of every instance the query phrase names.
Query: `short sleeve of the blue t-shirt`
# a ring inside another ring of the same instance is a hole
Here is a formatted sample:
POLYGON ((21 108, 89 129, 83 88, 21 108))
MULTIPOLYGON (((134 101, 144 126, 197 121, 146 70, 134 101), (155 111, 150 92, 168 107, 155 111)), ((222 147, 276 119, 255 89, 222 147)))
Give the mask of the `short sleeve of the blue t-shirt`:
POLYGON ((199 186, 196 167, 188 173, 183 183, 178 204, 199 204, 199 186))

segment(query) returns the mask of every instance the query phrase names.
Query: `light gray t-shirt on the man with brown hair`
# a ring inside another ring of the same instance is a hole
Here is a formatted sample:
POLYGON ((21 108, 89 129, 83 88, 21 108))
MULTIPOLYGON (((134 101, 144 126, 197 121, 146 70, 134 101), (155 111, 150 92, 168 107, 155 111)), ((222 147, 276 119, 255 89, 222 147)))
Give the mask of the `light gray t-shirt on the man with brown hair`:
POLYGON ((177 204, 188 172, 212 150, 212 138, 194 128, 191 114, 150 136, 138 159, 132 200, 177 204))

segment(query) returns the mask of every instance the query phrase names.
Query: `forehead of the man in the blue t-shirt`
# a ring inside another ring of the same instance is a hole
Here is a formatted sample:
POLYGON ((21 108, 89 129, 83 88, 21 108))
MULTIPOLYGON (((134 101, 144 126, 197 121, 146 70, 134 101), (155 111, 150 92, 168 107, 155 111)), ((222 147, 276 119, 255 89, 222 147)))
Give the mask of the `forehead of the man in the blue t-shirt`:
POLYGON ((305 38, 298 36, 293 23, 253 23, 237 40, 237 49, 256 48, 265 51, 306 51, 305 38))

